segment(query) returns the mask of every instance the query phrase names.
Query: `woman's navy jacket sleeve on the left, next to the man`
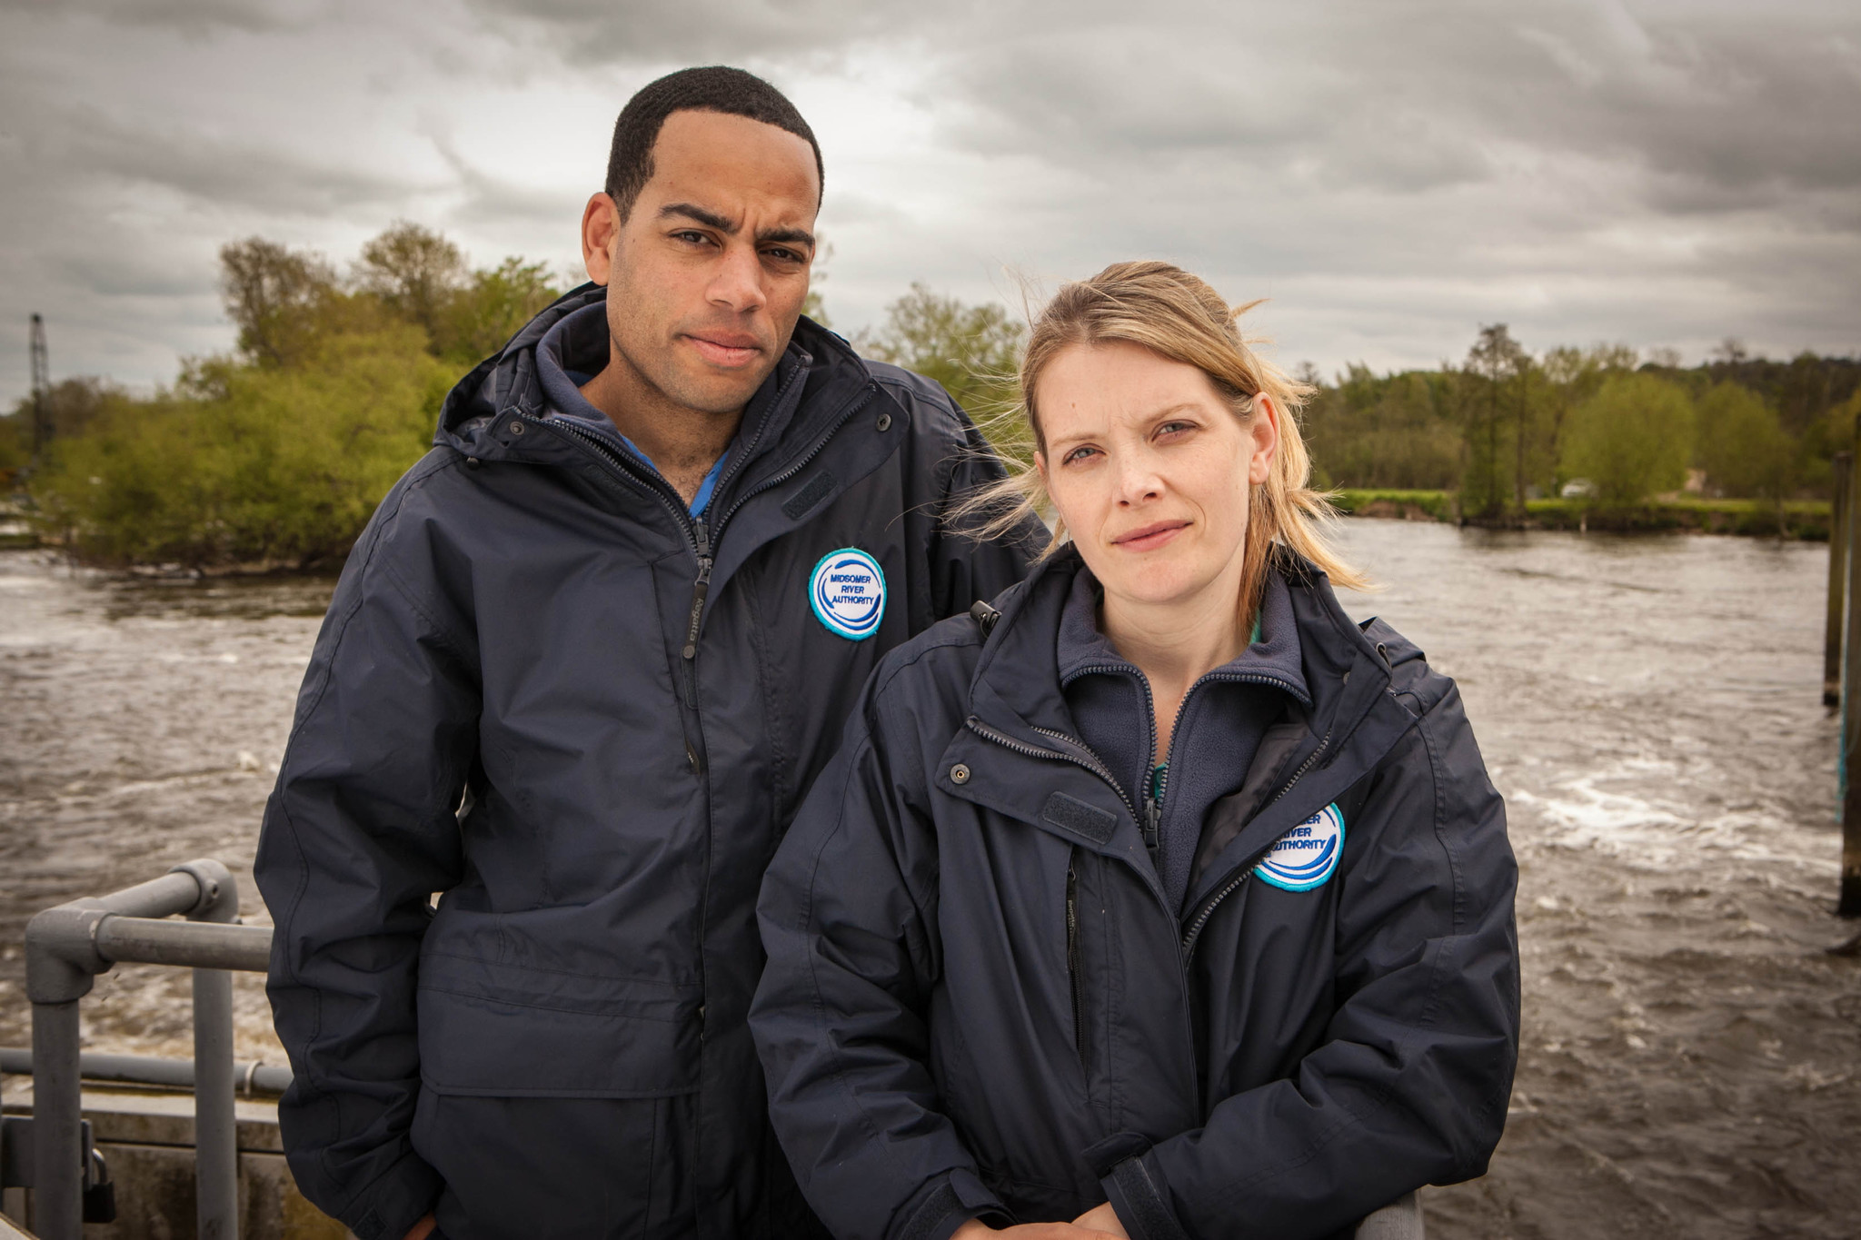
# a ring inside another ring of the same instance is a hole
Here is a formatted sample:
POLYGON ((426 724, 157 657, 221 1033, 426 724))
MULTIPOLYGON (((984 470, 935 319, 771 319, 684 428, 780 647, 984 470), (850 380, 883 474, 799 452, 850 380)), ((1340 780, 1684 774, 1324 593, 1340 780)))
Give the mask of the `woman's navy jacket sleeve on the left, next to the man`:
POLYGON ((763 879, 769 965, 750 1028, 776 1136, 828 1229, 944 1240, 970 1218, 1005 1216, 925 1065, 936 842, 862 714, 763 879))

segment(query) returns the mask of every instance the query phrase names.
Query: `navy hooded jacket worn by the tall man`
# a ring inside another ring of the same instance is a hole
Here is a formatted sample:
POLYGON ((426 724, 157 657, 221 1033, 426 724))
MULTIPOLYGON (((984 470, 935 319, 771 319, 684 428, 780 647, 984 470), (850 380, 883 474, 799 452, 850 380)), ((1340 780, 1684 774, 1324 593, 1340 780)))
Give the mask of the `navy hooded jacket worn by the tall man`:
POLYGON ((882 654, 1018 580, 1044 534, 957 534, 951 498, 1001 472, 975 428, 808 320, 694 522, 618 437, 543 416, 536 344, 603 297, 569 294, 447 400, 348 560, 266 809, 285 1145, 361 1240, 439 1195, 422 1089, 692 1097, 700 1233, 783 1233, 744 1024, 763 868, 882 654), (860 640, 810 600, 847 548, 884 576, 860 640))

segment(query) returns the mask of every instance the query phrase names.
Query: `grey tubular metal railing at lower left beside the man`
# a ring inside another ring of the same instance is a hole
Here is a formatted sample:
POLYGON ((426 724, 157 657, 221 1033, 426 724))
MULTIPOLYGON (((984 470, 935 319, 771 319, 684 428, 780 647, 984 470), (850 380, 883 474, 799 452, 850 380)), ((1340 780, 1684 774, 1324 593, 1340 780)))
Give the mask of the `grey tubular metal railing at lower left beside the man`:
POLYGON ((199 1240, 238 1240, 238 1130, 233 1114, 233 974, 264 972, 266 926, 238 924, 238 883, 218 861, 190 861, 108 896, 47 909, 26 924, 32 1000, 33 1231, 82 1240, 84 1147, 78 1000, 119 961, 194 969, 194 1175, 199 1240), (186 922, 164 920, 186 917, 186 922))

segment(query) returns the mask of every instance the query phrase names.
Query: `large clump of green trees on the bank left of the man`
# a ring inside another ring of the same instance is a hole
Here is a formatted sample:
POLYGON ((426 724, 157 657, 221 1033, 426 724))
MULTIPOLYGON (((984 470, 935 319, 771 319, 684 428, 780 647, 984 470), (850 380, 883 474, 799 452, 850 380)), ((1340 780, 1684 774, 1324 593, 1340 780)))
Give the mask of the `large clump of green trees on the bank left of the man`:
POLYGON ((469 271, 411 223, 368 242, 346 284, 264 238, 220 258, 236 357, 188 361, 154 400, 91 379, 52 390, 58 435, 30 491, 41 528, 80 558, 335 560, 426 450, 458 372, 558 296, 542 264, 469 271))

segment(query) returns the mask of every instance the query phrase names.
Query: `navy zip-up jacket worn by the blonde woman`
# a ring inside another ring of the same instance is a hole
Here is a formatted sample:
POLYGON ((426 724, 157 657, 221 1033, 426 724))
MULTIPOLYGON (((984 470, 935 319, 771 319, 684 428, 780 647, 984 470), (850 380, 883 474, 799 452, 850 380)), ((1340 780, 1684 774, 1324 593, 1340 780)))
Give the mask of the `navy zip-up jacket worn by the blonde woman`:
POLYGON ((808 1201, 843 1240, 1107 1197, 1141 1240, 1297 1238, 1479 1175, 1517 866, 1453 682, 1282 556, 1314 703, 1210 809, 1178 913, 1059 690, 1078 563, 886 656, 763 881, 750 1024, 808 1201), (1329 881, 1262 881, 1329 805, 1329 881))

